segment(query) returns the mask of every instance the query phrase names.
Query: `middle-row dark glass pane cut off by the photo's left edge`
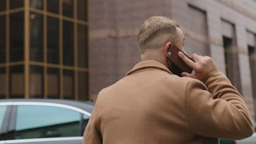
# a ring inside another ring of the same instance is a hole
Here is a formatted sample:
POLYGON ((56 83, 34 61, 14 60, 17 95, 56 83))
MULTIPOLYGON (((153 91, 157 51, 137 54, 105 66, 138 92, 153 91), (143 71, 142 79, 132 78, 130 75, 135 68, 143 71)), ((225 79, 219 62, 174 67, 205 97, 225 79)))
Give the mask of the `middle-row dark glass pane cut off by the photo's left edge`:
POLYGON ((6 16, 0 16, 0 63, 5 63, 5 56, 6 56, 6 16))

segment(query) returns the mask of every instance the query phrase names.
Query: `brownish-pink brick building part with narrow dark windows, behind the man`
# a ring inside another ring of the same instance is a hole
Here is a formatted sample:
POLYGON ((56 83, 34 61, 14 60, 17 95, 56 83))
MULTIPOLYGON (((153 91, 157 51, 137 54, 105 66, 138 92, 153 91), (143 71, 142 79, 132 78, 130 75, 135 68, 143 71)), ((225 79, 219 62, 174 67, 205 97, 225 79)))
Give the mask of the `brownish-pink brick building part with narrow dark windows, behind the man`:
POLYGON ((89 5, 91 99, 140 61, 139 28, 150 16, 160 15, 179 23, 189 55, 214 59, 242 93, 254 117, 255 0, 94 0, 89 5))

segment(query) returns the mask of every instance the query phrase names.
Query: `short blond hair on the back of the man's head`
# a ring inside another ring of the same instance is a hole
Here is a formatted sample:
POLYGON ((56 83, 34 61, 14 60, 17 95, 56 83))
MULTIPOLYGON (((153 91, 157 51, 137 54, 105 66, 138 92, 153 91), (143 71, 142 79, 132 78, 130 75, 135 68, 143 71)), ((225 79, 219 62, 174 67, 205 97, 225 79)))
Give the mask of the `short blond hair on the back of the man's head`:
POLYGON ((157 49, 167 41, 174 43, 178 23, 164 16, 152 16, 146 20, 138 33, 138 46, 141 54, 149 49, 157 49))

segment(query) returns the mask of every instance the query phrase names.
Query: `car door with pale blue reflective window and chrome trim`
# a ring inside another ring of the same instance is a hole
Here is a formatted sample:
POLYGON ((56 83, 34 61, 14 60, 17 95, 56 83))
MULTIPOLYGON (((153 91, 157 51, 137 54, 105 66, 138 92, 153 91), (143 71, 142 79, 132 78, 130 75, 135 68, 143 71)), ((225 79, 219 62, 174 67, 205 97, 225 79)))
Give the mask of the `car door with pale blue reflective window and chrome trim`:
POLYGON ((15 121, 9 125, 7 143, 82 143, 87 113, 71 106, 38 104, 14 106, 11 119, 15 121))

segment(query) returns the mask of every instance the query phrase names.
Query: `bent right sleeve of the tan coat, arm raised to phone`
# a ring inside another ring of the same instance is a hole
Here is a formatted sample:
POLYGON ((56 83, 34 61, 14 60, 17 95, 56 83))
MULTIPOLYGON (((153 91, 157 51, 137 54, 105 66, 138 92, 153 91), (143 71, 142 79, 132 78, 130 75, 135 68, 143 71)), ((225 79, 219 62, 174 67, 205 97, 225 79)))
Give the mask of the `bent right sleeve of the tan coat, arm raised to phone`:
POLYGON ((251 136, 252 117, 228 78, 214 70, 202 82, 190 80, 187 85, 185 110, 190 130, 205 137, 231 140, 251 136))

